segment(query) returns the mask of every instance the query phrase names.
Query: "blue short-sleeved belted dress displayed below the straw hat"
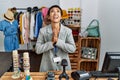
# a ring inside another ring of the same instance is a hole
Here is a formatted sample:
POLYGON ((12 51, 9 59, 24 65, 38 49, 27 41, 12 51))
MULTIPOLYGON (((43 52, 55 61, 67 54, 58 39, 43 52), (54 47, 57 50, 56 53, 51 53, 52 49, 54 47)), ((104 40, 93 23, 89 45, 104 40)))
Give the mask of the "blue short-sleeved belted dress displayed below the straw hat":
POLYGON ((4 32, 4 47, 5 51, 11 52, 19 48, 18 40, 18 22, 14 20, 9 22, 7 20, 0 21, 0 31, 4 32))

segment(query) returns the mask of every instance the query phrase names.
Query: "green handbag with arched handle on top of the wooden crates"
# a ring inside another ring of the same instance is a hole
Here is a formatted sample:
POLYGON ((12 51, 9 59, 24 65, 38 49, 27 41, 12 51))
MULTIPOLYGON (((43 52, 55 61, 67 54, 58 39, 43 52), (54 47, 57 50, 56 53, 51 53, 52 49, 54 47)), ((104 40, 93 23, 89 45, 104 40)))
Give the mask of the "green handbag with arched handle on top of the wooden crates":
POLYGON ((93 19, 90 24, 88 25, 86 29, 88 33, 88 37, 100 37, 100 32, 99 32, 99 21, 96 19, 93 19), (94 24, 96 22, 96 25, 94 24))

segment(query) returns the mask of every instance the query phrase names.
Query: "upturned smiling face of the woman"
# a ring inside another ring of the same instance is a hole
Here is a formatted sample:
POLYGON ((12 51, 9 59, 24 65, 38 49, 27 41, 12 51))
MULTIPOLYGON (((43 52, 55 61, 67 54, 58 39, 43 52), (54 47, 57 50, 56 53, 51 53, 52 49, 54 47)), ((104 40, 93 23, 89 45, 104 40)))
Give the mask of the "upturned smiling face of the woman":
POLYGON ((59 23, 61 20, 61 11, 59 8, 54 7, 50 10, 50 15, 49 15, 49 19, 51 20, 51 22, 53 23, 59 23))

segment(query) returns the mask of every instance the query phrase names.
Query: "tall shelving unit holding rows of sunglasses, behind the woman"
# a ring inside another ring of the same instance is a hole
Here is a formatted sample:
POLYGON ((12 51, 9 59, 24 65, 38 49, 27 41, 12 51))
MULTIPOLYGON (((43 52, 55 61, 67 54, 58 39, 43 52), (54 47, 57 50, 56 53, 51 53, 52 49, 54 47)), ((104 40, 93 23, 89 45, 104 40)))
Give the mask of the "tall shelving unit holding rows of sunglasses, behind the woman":
MULTIPOLYGON (((63 1, 62 1, 63 2, 63 1)), ((63 5, 63 4, 62 4, 63 5)), ((76 44, 76 51, 69 53, 72 70, 78 68, 78 36, 80 33, 81 25, 81 9, 80 7, 68 7, 67 9, 68 18, 64 20, 64 24, 72 30, 73 38, 76 44)))

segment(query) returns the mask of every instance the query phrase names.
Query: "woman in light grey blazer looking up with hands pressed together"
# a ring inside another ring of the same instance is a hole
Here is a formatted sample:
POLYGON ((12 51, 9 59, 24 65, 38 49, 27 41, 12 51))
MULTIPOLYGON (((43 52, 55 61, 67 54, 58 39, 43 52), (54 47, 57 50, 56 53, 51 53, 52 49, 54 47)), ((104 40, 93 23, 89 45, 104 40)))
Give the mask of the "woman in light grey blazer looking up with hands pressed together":
POLYGON ((62 9, 58 5, 51 6, 47 15, 51 24, 40 29, 35 48, 37 54, 43 54, 40 71, 62 70, 62 59, 67 60, 66 69, 71 70, 68 53, 76 50, 72 31, 60 23, 62 9))

